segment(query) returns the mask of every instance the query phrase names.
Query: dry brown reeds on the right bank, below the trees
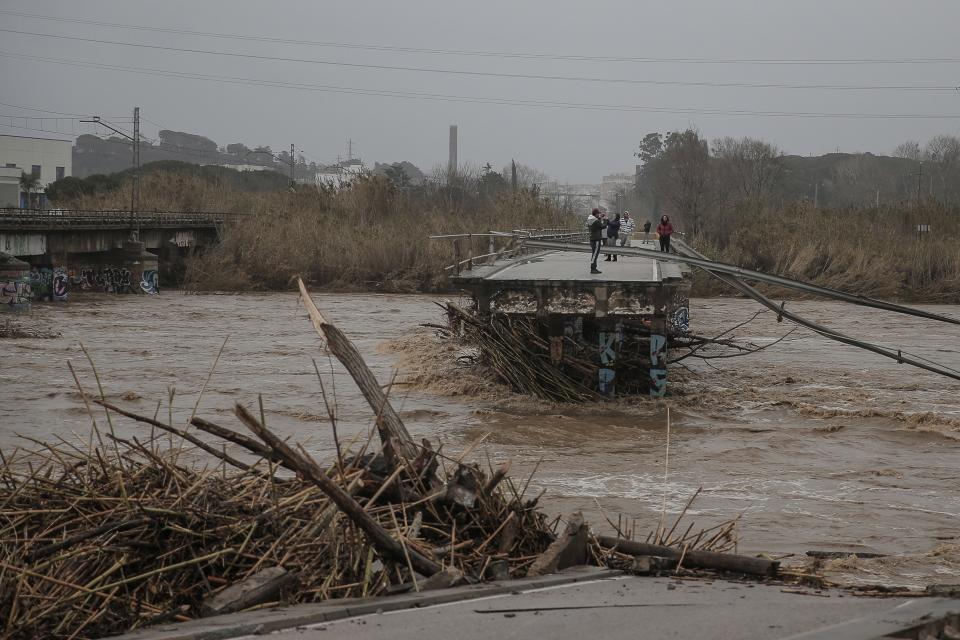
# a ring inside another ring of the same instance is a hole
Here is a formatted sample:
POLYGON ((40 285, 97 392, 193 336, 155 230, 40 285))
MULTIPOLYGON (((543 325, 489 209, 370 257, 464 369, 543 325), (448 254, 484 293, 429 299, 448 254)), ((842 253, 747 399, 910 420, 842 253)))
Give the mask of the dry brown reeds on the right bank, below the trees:
MULTIPOLYGON (((754 209, 693 239, 715 260, 861 295, 960 303, 960 211, 935 203, 861 210, 754 209), (931 231, 920 234, 918 223, 931 231)), ((698 272, 695 295, 725 293, 698 272)))

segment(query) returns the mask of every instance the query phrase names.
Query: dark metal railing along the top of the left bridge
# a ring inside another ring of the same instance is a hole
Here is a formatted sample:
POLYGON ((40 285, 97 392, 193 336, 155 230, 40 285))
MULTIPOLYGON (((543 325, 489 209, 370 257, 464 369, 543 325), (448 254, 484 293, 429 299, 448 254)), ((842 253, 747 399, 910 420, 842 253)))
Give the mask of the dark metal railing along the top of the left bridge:
POLYGON ((135 211, 91 209, 0 208, 0 228, 129 228, 216 227, 242 219, 245 213, 210 211, 135 211))

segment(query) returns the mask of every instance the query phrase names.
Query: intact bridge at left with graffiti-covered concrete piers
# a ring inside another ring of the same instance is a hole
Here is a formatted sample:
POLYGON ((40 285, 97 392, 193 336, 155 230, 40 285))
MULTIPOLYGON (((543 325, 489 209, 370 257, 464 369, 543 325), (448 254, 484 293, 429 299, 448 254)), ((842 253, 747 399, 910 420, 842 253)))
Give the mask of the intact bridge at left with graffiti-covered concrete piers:
POLYGON ((0 277, 0 309, 66 300, 70 291, 157 293, 185 257, 219 243, 242 215, 0 209, 0 253, 29 266, 0 277))

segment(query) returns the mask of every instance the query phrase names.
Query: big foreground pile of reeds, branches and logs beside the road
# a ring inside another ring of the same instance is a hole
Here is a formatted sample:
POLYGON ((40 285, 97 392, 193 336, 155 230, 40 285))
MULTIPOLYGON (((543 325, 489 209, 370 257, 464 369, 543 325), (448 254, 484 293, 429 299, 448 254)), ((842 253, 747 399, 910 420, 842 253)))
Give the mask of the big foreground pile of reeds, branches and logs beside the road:
POLYGON ((525 497, 529 479, 515 483, 508 464, 484 471, 465 461, 469 450, 454 457, 415 444, 352 343, 301 289, 318 333, 373 409, 369 437, 341 443, 334 433, 337 455, 321 464, 241 404, 242 428, 196 416, 181 427, 88 397, 78 384, 93 422, 86 446, 59 440, 0 453, 0 639, 97 638, 277 602, 584 563, 642 572, 661 558, 653 569, 776 571, 704 550, 717 535, 685 534, 673 539, 680 546, 659 544, 670 541, 659 527, 658 544, 594 537, 577 514, 557 532, 539 496, 525 497), (143 437, 117 436, 120 416, 142 423, 143 437))

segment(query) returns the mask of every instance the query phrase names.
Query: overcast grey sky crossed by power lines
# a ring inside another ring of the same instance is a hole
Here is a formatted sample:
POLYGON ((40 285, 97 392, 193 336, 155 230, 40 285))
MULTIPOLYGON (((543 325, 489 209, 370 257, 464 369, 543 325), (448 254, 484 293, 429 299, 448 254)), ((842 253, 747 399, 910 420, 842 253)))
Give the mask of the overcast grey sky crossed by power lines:
MULTIPOLYGON (((787 153, 888 153, 903 140, 960 132, 956 118, 772 117, 730 111, 960 116, 960 2, 953 0, 773 0, 569 2, 410 0, 408 2, 252 2, 249 0, 2 0, 0 29, 169 48, 298 58, 292 62, 170 51, 0 31, 0 101, 71 114, 127 115, 142 108, 144 132, 165 127, 206 135, 221 145, 291 142, 322 162, 356 154, 374 161, 443 164, 450 124, 459 125, 461 162, 502 167, 511 158, 562 181, 599 181, 631 170, 644 134, 696 126, 706 137, 753 136, 787 153), (14 15, 54 16, 47 20, 14 15), (311 41, 281 43, 74 20, 122 23, 311 41), (320 42, 441 49, 443 53, 321 46, 320 42), (549 54, 462 55, 465 50, 549 54), (24 59, 33 56, 59 62, 24 59), (714 63, 570 60, 551 56, 698 58, 714 63), (716 60, 943 59, 883 64, 758 64, 716 60), (67 66, 62 61, 136 67, 67 66), (326 63, 417 67, 483 74, 564 76, 578 80, 458 75, 326 63), (158 72, 314 85, 228 84, 158 72), (590 82, 619 79, 630 82, 590 82), (779 85, 896 86, 885 90, 658 85, 647 81, 779 85), (339 87, 340 92, 316 90, 339 87), (942 87, 907 90, 903 87, 942 87), (344 89, 361 93, 343 93, 344 89), (664 109, 663 112, 477 103, 370 92, 408 92, 494 101, 539 101, 664 109), (684 111, 687 110, 687 111, 684 111), (714 113, 697 113, 714 111, 714 113), (717 111, 723 113, 716 113, 717 111)), ((0 105, 0 114, 39 115, 0 105)), ((53 115, 53 114, 49 114, 53 115)), ((0 118, 0 123, 10 123, 0 118)), ((23 121, 14 122, 23 124, 23 121)), ((28 123, 39 127, 38 122, 28 123)), ((43 127, 57 126, 47 121, 43 127)), ((95 131, 59 123, 61 130, 95 131)), ((43 135, 0 126, 2 133, 43 135)))

